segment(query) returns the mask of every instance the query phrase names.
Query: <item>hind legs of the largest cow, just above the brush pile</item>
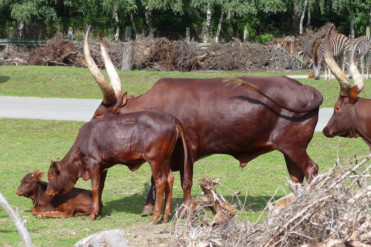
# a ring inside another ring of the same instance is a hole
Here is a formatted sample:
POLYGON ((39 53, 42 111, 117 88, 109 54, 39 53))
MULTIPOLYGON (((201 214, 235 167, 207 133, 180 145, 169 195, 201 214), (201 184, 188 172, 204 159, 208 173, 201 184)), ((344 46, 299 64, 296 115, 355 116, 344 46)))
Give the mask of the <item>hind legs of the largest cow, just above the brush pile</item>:
POLYGON ((304 177, 308 183, 317 176, 318 165, 308 156, 306 148, 282 151, 291 181, 303 183, 304 177))

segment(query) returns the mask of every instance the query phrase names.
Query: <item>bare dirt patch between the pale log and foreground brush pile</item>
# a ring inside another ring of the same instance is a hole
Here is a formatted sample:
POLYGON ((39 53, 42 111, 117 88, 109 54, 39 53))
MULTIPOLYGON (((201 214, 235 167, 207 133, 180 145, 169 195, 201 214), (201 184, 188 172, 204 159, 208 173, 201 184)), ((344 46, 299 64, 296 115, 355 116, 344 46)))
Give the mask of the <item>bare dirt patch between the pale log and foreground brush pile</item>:
POLYGON ((155 226, 142 223, 125 229, 128 246, 167 246, 170 242, 172 224, 157 224, 155 226))

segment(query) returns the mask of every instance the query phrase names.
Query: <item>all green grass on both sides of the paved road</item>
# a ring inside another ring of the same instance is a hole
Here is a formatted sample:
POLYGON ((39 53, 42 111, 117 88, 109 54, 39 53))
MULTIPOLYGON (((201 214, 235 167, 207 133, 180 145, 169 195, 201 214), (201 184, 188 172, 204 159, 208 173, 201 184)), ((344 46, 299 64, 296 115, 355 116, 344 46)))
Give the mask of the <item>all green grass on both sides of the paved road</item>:
MULTIPOLYGON (((105 71, 103 71, 104 74, 105 71)), ((138 96, 149 90, 163 77, 211 78, 227 76, 270 76, 288 74, 309 74, 308 72, 277 73, 178 73, 132 71, 119 72, 124 90, 138 96)), ((315 81, 298 79, 322 92, 322 107, 333 107, 338 98, 339 86, 336 80, 315 81)), ((371 97, 371 80, 365 80, 366 86, 361 96, 371 97)), ((0 66, 0 96, 33 96, 79 99, 101 99, 101 91, 87 69, 46 66, 0 66)), ((19 197, 15 191, 23 176, 40 169, 47 171, 50 160, 59 160, 72 146, 83 122, 55 120, 0 119, 0 191, 7 198, 22 220, 27 220, 35 246, 72 246, 79 239, 95 232, 112 228, 141 226, 149 222, 150 217, 141 217, 150 187, 151 171, 144 164, 135 173, 126 166, 118 165, 108 171, 103 193, 103 214, 93 222, 86 222, 87 217, 68 219, 37 219, 31 215, 32 201, 19 197)), ((326 138, 322 133, 315 133, 308 147, 308 154, 319 164, 320 173, 334 164, 336 157, 343 160, 352 154, 359 159, 370 153, 368 146, 360 139, 326 138)), ((183 191, 179 173, 174 173, 173 211, 181 204, 183 191)), ((265 154, 251 161, 245 168, 230 156, 213 155, 197 161, 194 165, 194 186, 192 195, 201 194, 197 180, 210 176, 219 178, 224 186, 246 194, 248 210, 240 212, 241 219, 254 221, 266 206, 266 201, 279 186, 286 189, 289 179, 283 155, 278 151, 265 154)), ((47 181, 46 176, 43 178, 47 181)), ((91 189, 91 182, 79 180, 76 187, 91 189)), ((227 198, 232 193, 219 188, 227 198)), ((287 193, 286 189, 286 193, 287 193)), ((276 198, 285 195, 279 190, 276 198)), ((171 226, 171 223, 166 225, 171 226)), ((0 247, 20 246, 21 239, 6 212, 0 208, 0 247)), ((142 246, 143 243, 138 243, 142 246)))

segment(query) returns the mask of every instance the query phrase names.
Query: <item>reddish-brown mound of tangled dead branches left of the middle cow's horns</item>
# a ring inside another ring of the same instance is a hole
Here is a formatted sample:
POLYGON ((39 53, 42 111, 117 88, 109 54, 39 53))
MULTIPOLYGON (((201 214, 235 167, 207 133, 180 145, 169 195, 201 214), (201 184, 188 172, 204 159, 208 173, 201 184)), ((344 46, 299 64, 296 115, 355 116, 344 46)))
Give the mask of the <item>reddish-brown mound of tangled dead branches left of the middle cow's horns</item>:
POLYGON ((66 35, 60 32, 47 43, 32 51, 32 65, 61 65, 83 67, 78 49, 66 35))

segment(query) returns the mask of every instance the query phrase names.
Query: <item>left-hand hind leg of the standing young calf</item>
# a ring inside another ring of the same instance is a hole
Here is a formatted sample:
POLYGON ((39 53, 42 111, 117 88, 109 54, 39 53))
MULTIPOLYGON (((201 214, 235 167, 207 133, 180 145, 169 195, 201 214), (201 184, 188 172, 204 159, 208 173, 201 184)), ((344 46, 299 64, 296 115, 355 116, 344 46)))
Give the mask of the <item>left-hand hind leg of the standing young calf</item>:
POLYGON ((164 200, 167 177, 164 171, 164 161, 148 161, 148 163, 150 163, 151 166, 157 192, 153 216, 149 224, 157 224, 158 217, 161 215, 162 201, 164 200))

